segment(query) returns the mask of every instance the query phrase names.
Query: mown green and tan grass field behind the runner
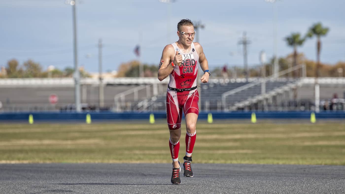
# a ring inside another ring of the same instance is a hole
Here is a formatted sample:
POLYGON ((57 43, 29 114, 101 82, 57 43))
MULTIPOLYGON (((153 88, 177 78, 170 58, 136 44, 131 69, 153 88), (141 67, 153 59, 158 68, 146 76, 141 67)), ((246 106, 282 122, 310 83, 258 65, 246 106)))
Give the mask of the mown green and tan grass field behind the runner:
MULTIPOLYGON (((185 154, 182 127, 179 159, 185 154)), ((164 120, 0 123, 0 163, 170 163, 164 120)), ((198 121, 196 163, 345 165, 345 125, 198 121)))

